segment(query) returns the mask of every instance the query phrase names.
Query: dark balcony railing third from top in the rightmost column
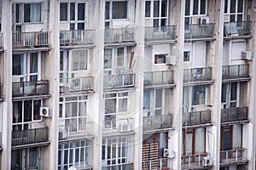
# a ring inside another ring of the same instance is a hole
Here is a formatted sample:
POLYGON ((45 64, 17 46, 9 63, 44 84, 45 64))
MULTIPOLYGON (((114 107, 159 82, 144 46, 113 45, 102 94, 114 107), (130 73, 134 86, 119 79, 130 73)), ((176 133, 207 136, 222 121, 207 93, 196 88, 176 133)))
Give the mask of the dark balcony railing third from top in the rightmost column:
POLYGON ((221 122, 236 122, 248 120, 247 107, 235 107, 221 110, 221 122))

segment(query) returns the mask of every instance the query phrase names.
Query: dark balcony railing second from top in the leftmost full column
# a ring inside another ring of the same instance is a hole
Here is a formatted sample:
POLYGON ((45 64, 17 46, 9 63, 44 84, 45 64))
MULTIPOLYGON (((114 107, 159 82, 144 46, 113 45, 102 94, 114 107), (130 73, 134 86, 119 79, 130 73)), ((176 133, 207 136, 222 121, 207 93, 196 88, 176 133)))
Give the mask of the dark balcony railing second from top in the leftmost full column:
POLYGON ((48 94, 48 80, 13 82, 13 97, 48 94))

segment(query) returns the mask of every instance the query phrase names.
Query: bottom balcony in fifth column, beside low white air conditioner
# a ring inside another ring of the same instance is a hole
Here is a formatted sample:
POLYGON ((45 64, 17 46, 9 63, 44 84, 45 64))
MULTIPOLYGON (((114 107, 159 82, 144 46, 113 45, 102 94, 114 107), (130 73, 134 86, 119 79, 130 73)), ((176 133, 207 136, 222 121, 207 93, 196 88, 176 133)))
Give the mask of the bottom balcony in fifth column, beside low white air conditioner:
POLYGON ((182 169, 200 169, 203 167, 203 158, 207 156, 207 153, 182 156, 182 169))

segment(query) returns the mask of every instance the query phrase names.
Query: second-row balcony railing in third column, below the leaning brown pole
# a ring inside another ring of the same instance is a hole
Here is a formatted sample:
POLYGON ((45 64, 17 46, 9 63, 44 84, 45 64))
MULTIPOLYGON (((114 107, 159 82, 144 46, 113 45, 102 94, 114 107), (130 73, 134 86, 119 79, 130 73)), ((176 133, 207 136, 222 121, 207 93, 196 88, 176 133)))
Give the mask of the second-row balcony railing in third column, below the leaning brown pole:
POLYGON ((129 88, 134 87, 135 75, 121 74, 121 75, 108 75, 104 76, 103 86, 104 88, 129 88))

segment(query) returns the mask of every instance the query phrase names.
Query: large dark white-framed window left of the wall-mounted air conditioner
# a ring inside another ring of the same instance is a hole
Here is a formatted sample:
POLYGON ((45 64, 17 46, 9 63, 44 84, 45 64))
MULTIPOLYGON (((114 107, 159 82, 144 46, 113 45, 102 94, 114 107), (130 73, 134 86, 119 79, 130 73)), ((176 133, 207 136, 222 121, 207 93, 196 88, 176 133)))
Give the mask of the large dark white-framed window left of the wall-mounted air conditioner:
POLYGON ((31 122, 42 121, 40 106, 42 99, 22 100, 13 102, 13 131, 29 129, 31 122))

